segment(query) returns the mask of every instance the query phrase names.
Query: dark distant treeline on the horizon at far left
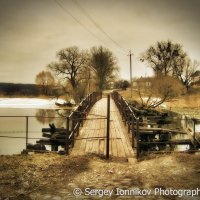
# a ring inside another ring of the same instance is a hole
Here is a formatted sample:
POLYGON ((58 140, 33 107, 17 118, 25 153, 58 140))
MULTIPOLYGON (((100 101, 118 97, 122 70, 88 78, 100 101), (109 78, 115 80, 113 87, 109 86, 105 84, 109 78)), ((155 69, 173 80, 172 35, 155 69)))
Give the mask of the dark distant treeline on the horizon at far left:
POLYGON ((0 83, 0 94, 6 96, 38 96, 40 91, 35 84, 0 83))

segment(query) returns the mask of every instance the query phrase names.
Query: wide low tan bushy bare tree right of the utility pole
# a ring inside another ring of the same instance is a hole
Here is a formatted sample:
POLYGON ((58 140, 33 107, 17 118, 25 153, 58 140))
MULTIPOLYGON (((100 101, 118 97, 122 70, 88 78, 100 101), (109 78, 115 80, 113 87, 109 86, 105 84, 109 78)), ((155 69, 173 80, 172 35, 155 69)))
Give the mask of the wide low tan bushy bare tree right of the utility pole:
POLYGON ((137 81, 137 92, 140 104, 145 108, 156 108, 183 92, 181 82, 170 76, 154 77, 150 84, 146 84, 144 81, 137 81))

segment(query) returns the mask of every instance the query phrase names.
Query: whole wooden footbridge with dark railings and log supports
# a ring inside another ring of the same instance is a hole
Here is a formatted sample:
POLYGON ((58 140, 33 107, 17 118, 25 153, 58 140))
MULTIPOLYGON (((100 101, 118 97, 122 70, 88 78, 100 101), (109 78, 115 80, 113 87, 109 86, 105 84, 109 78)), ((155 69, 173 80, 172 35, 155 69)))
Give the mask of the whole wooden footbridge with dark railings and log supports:
MULTIPOLYGON (((58 151, 58 145, 64 145, 66 154, 75 156, 95 154, 106 158, 126 158, 130 162, 135 162, 133 158, 138 159, 142 152, 159 153, 165 149, 173 152, 174 145, 189 145, 189 150, 198 151, 200 144, 195 129, 193 140, 174 140, 173 134, 187 133, 179 129, 158 127, 165 121, 162 115, 156 114, 150 116, 150 119, 143 119, 141 114, 137 113, 139 110, 130 106, 117 92, 112 93, 110 101, 107 101, 107 97, 101 97, 101 93, 88 95, 77 109, 66 117, 66 129, 48 129, 50 134, 47 135, 50 139, 38 142, 48 142, 55 151, 58 151), (153 118, 156 120, 152 121, 153 118)), ((45 131, 46 129, 43 129, 43 134, 45 131)))

